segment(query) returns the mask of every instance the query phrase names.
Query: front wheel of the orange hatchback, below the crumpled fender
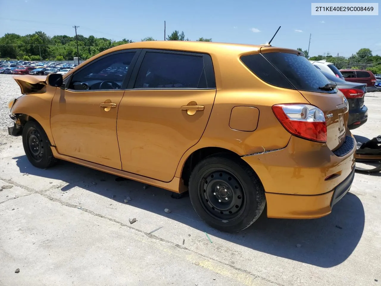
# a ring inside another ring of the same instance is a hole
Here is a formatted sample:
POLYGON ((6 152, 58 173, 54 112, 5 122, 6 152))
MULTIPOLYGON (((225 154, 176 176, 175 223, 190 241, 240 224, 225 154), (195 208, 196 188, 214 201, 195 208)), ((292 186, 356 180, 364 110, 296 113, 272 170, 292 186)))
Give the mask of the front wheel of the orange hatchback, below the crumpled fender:
POLYGON ((48 136, 37 122, 27 121, 24 125, 22 145, 29 162, 35 167, 44 169, 56 163, 48 136))

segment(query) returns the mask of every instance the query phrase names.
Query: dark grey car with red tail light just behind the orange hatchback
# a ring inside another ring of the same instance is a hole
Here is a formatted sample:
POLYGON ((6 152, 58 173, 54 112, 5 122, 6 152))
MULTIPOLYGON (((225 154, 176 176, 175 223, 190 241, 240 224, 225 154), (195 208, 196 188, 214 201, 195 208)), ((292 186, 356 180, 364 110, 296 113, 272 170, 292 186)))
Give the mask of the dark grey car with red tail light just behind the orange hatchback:
POLYGON ((355 129, 360 127, 368 120, 368 108, 364 105, 365 93, 367 92, 367 84, 360 84, 356 82, 347 82, 343 79, 333 76, 331 73, 321 71, 327 79, 336 84, 349 105, 349 119, 348 128, 355 129))

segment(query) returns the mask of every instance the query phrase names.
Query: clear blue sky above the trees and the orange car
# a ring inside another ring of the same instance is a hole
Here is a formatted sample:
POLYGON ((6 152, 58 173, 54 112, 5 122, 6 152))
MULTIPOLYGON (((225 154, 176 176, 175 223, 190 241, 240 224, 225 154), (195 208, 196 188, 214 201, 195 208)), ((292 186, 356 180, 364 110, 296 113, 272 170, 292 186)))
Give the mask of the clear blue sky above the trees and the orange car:
POLYGON ((75 35, 77 25, 86 37, 162 40, 165 20, 167 34, 177 29, 190 40, 262 44, 282 26, 274 46, 306 50, 311 33, 311 56, 350 56, 360 48, 381 55, 380 17, 311 16, 311 2, 305 0, 0 0, 0 35, 75 35))

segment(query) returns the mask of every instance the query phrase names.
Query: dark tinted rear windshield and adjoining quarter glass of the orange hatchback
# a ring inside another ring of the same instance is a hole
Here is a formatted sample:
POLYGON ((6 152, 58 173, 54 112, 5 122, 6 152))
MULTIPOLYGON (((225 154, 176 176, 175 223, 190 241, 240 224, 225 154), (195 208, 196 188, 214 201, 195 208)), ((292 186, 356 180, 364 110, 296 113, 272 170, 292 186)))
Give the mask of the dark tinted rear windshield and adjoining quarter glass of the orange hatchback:
POLYGON ((304 56, 277 52, 242 56, 241 60, 268 84, 309 92, 337 92, 319 89, 330 81, 304 56))

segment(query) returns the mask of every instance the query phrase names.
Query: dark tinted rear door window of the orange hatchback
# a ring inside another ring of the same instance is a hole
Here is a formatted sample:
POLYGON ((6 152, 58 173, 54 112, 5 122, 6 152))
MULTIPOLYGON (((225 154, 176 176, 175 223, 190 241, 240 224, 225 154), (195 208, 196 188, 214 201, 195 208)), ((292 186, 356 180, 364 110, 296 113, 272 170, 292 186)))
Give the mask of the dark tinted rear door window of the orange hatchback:
POLYGON ((134 88, 215 88, 204 59, 209 55, 147 51, 134 88))

